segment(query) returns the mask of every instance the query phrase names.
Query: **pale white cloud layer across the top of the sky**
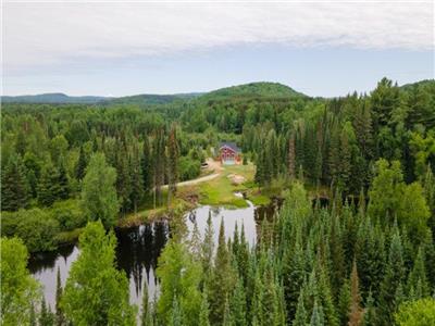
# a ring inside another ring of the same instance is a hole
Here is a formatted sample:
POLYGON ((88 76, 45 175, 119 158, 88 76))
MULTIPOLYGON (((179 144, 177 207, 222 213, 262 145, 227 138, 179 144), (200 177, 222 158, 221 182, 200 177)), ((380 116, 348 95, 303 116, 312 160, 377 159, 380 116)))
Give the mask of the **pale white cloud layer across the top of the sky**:
POLYGON ((264 42, 430 50, 433 10, 432 2, 7 2, 3 60, 14 71, 264 42))

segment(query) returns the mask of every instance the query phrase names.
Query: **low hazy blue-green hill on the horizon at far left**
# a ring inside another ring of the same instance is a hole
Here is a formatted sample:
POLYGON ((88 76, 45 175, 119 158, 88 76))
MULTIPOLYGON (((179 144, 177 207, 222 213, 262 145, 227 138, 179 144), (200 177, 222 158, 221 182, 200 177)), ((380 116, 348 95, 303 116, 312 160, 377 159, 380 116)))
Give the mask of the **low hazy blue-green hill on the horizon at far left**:
POLYGON ((104 97, 70 97, 61 92, 41 93, 34 96, 1 97, 3 103, 98 103, 103 100, 110 100, 104 97))

